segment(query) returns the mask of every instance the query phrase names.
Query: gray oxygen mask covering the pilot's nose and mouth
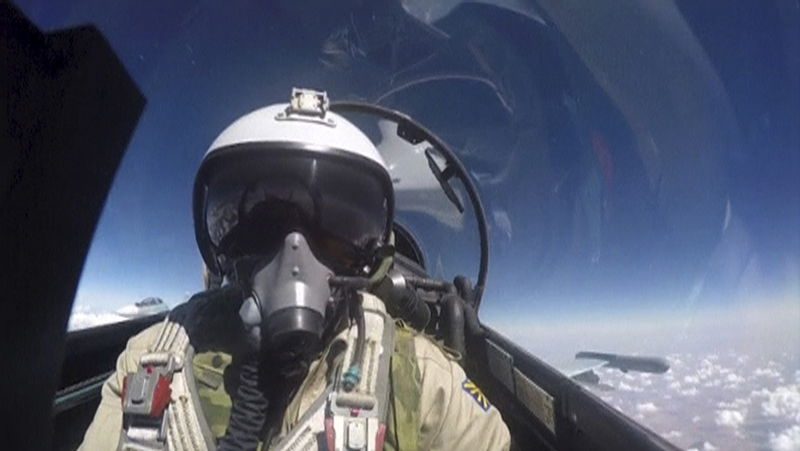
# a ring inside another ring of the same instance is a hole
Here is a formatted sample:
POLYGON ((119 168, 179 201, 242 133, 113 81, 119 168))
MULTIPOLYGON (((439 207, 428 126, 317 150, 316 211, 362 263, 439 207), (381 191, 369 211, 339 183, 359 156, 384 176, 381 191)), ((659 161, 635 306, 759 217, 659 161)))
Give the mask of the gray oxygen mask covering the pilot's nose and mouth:
POLYGON ((332 273, 314 257, 301 233, 287 235, 272 258, 255 266, 251 296, 239 311, 251 347, 281 359, 317 352, 332 273))

